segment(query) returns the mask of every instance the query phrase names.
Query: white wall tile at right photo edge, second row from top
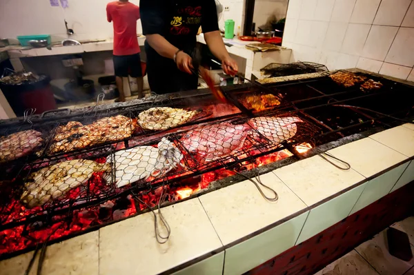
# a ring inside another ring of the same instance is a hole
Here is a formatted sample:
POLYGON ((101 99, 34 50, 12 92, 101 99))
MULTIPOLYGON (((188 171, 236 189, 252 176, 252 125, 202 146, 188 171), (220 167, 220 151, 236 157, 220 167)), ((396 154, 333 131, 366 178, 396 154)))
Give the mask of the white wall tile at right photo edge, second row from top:
POLYGON ((407 67, 414 66, 414 28, 400 28, 385 61, 407 67))

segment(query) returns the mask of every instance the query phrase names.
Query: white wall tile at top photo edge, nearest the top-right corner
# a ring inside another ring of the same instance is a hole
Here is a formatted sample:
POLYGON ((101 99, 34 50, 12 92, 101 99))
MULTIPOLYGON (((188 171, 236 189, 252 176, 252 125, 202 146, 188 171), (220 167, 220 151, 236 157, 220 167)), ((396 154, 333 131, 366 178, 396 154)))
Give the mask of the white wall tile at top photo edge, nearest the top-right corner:
POLYGON ((411 0, 382 0, 374 24, 400 26, 410 3, 411 0))

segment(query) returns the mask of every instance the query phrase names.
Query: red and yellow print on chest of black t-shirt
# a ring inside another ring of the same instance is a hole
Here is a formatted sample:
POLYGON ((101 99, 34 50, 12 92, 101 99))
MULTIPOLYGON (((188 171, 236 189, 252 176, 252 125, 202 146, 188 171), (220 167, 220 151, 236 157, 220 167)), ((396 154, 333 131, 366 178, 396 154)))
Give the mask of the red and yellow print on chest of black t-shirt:
POLYGON ((201 24, 201 6, 179 8, 177 15, 172 17, 170 34, 186 35, 190 33, 191 28, 198 30, 201 24))

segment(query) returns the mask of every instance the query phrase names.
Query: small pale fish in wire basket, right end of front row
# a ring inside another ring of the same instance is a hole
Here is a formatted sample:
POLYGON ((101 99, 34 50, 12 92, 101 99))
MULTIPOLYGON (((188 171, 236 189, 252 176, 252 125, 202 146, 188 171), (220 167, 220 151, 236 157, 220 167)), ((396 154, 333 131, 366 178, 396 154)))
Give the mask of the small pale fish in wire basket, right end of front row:
MULTIPOLYGON (((297 116, 259 116, 254 119, 250 119, 250 123, 253 124, 253 127, 257 130, 257 132, 275 144, 279 144, 282 141, 293 138, 297 132, 296 123, 298 122, 304 121, 299 119, 297 116)), ((256 133, 251 132, 251 134, 254 135, 256 133)))

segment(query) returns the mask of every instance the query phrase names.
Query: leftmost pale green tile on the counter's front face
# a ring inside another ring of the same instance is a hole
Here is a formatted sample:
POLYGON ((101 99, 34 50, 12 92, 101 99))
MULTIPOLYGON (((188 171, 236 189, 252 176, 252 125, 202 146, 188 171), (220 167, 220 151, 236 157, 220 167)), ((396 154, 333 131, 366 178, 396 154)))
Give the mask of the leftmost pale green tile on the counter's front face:
POLYGON ((224 251, 219 254, 215 254, 206 260, 190 265, 178 272, 175 272, 174 275, 221 275, 223 274, 224 266, 224 251))

